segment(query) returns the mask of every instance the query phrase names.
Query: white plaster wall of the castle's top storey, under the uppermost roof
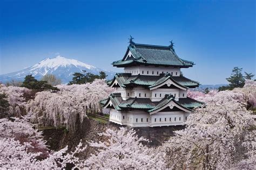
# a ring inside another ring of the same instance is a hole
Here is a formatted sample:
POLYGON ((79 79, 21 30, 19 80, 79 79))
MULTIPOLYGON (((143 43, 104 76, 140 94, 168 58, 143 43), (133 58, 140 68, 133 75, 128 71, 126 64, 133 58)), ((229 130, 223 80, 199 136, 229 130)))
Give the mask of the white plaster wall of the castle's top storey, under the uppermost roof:
POLYGON ((172 76, 180 76, 180 68, 163 67, 163 66, 134 66, 125 67, 125 73, 131 73, 132 75, 159 75, 161 73, 170 73, 172 76))

